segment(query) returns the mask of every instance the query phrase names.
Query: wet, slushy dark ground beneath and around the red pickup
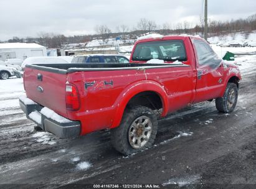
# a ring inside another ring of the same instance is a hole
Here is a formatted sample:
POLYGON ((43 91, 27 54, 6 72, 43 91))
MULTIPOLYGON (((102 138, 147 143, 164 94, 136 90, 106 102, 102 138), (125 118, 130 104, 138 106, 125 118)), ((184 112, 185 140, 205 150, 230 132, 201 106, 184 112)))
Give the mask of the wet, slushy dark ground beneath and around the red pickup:
MULTIPOLYGON (((59 139, 34 131, 18 106, 0 108, 0 188, 79 188, 84 183, 255 188, 256 67, 242 73, 233 113, 219 113, 213 101, 169 114, 159 120, 154 146, 130 157, 111 147, 109 131, 59 139)), ((0 103, 21 93, 0 95, 0 103)))

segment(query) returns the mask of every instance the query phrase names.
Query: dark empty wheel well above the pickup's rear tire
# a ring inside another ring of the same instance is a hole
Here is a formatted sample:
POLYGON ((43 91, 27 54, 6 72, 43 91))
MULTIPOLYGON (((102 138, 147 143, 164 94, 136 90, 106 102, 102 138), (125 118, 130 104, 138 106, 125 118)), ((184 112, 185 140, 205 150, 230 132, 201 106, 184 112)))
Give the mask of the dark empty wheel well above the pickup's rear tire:
POLYGON ((133 96, 133 98, 130 99, 127 106, 131 104, 146 106, 153 110, 163 108, 163 103, 159 94, 153 91, 145 91, 136 94, 133 96))

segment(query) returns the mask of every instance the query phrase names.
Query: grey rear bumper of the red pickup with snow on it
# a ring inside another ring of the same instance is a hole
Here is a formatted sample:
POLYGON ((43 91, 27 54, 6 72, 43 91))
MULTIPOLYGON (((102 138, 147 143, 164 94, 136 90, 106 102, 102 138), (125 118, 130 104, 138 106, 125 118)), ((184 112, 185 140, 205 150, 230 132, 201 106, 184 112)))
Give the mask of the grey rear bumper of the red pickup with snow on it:
POLYGON ((70 138, 80 135, 81 126, 79 121, 71 121, 62 116, 60 116, 60 118, 63 118, 66 121, 58 122, 54 119, 47 118, 40 112, 43 107, 40 106, 40 104, 34 103, 34 101, 31 101, 29 98, 20 98, 19 105, 21 106, 22 111, 26 113, 27 118, 34 121, 46 132, 55 134, 60 138, 70 138))

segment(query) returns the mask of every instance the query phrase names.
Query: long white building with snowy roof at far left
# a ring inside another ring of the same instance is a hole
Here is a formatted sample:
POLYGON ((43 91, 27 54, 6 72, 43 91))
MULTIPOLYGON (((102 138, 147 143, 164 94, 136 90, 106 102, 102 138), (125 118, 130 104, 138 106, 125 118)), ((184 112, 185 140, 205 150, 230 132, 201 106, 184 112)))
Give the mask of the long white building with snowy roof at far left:
POLYGON ((8 58, 25 60, 28 57, 47 57, 46 47, 25 43, 0 44, 0 60, 4 61, 8 58))

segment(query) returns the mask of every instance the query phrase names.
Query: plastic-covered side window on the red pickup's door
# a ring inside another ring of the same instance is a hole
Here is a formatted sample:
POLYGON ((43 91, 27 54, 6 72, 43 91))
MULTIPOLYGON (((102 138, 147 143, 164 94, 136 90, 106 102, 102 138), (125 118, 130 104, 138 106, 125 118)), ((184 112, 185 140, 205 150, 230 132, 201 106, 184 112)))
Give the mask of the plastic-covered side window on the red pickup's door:
POLYGON ((209 44, 198 39, 193 40, 193 43, 196 47, 199 65, 209 65, 212 68, 216 68, 220 65, 222 60, 218 57, 214 50, 212 50, 209 44))

